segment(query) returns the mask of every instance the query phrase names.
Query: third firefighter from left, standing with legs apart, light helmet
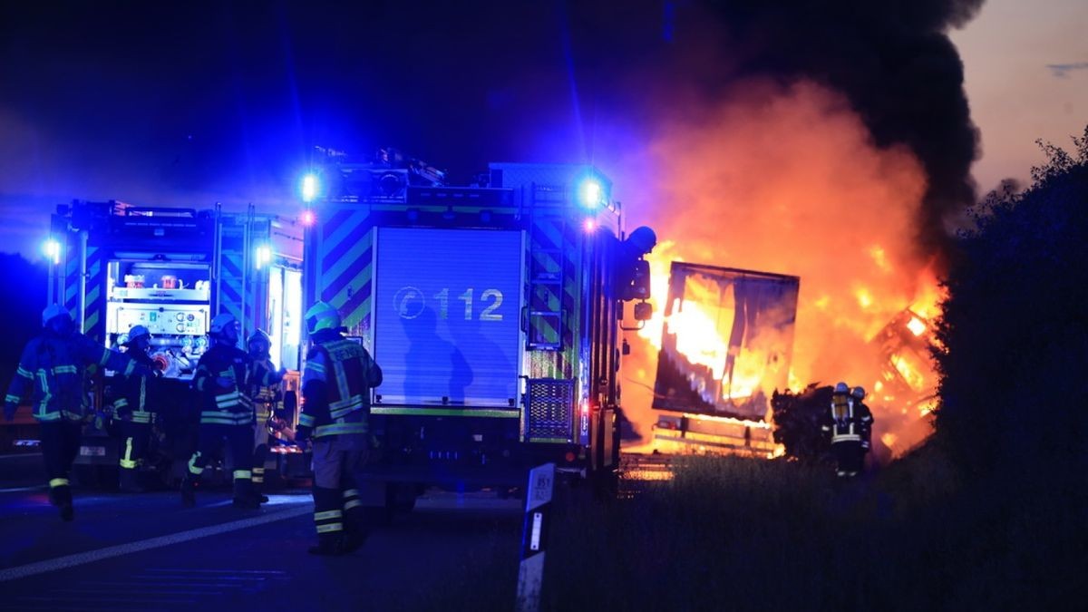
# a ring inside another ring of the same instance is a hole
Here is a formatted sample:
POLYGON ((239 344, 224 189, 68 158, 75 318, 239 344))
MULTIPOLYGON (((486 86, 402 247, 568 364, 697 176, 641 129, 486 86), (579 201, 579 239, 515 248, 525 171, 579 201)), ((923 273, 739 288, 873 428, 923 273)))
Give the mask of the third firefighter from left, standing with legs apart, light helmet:
POLYGON ((279 382, 280 372, 251 368, 249 355, 237 347, 238 320, 230 314, 211 320, 212 345, 200 357, 193 388, 200 396, 200 430, 197 451, 182 479, 182 504, 196 505, 196 484, 225 439, 234 460, 234 505, 256 510, 260 499, 252 488, 254 406, 252 380, 279 382))

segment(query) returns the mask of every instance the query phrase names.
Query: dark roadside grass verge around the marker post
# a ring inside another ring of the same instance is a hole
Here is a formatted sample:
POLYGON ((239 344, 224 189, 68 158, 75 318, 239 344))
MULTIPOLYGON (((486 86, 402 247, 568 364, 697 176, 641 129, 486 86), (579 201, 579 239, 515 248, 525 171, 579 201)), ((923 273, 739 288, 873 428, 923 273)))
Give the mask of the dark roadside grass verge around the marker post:
MULTIPOLYGON (((678 457, 630 499, 556 492, 542 610, 1078 610, 1085 480, 974 481, 929 444, 850 482, 827 468, 678 457), (1055 495, 1060 495, 1055 497, 1055 495)), ((1025 480, 1026 478, 1026 480, 1025 480)), ((496 539, 425 610, 511 610, 496 539)))

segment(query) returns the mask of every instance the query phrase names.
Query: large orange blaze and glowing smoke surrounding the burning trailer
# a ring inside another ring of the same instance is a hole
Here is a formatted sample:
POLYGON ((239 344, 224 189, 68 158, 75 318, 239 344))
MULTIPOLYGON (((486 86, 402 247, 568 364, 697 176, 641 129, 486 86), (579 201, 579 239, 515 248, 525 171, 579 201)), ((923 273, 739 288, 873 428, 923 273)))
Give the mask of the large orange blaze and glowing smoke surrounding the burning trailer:
MULTIPOLYGON (((919 418, 936 378, 925 343, 941 293, 934 258, 916 247, 926 178, 910 151, 877 147, 820 86, 750 84, 724 106, 667 122, 644 157, 627 161, 632 175, 617 185, 643 191, 625 204, 662 237, 647 257, 655 316, 625 374, 635 383, 625 387, 625 409, 644 439, 657 420, 650 405, 672 260, 800 277, 790 385, 866 388, 892 454, 928 434, 919 418)), ((668 325, 679 351, 720 379, 719 321, 685 306, 668 325)), ((759 356, 741 357, 724 394, 761 388, 759 356)))

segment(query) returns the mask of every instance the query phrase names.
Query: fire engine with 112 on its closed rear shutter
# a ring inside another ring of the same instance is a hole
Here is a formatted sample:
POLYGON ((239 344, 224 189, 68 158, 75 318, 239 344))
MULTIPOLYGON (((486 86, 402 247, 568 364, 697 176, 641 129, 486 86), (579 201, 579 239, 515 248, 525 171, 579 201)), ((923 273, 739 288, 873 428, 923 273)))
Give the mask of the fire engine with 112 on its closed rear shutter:
POLYGON ((512 487, 540 462, 617 473, 621 321, 625 301, 629 321, 650 318, 653 232, 625 234, 593 167, 489 170, 449 186, 421 162, 330 155, 304 180, 306 303, 337 308, 384 371, 370 505, 512 487))

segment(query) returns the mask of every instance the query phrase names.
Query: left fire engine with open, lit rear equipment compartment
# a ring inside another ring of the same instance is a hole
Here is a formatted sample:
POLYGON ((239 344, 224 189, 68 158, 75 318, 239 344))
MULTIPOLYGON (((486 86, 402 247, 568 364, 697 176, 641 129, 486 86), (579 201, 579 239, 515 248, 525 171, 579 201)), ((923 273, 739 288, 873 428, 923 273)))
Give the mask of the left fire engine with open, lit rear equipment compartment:
MULTIPOLYGON (((73 201, 51 218, 49 303, 63 305, 77 329, 109 348, 124 350, 136 325, 151 332, 151 358, 169 389, 157 406, 168 460, 163 478, 181 475, 195 444, 195 400, 188 380, 209 346, 209 321, 231 313, 243 339, 254 329, 272 336, 272 359, 288 370, 296 393, 302 313, 301 227, 294 220, 222 207, 141 207, 121 201, 73 201), (294 371, 292 371, 294 370, 294 371)), ((244 342, 244 340, 242 341, 244 342)), ((118 465, 108 434, 110 372, 88 381, 99 415, 86 428, 76 464, 118 465)), ((289 417, 289 415, 288 415, 289 417)), ((84 470, 86 474, 87 472, 84 470)))

